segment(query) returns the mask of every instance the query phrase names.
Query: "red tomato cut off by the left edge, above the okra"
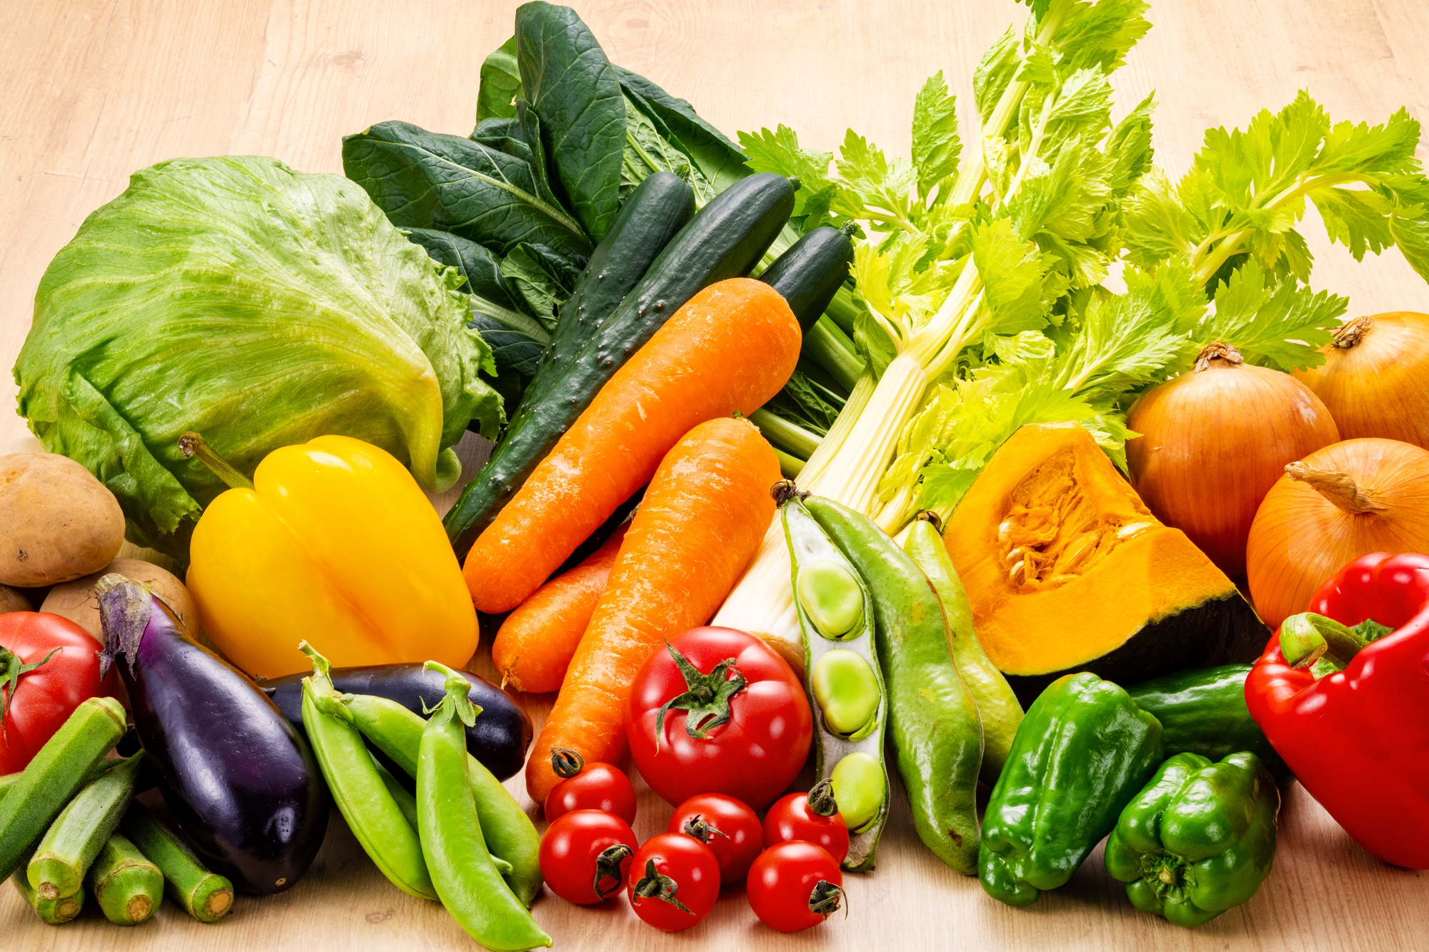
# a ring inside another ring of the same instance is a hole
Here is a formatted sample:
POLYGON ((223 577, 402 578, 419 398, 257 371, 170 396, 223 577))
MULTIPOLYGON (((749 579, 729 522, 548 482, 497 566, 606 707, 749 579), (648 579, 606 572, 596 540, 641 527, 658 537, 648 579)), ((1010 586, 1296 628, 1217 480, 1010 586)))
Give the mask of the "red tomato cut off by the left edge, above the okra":
POLYGON ((100 682, 100 648, 59 615, 0 615, 0 775, 23 770, 81 700, 111 693, 100 682))

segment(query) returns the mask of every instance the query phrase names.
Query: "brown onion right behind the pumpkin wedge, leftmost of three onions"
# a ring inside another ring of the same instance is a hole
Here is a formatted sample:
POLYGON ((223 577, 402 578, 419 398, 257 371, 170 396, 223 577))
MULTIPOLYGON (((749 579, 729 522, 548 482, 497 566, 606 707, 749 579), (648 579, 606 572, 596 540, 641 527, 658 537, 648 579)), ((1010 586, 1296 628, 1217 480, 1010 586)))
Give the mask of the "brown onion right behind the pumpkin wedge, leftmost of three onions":
POLYGON ((1255 512, 1285 465, 1339 440, 1309 387, 1243 363, 1223 343, 1202 350, 1190 373, 1142 395, 1126 423, 1140 433, 1126 462, 1142 500, 1236 580, 1246 573, 1255 512))

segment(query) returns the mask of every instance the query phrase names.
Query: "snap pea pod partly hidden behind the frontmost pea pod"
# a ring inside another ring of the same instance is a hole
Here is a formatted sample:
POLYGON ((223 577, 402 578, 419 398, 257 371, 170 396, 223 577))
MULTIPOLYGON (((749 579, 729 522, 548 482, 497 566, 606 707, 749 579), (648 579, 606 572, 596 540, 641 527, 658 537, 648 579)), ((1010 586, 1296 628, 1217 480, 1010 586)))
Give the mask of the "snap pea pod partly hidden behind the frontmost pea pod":
MULTIPOLYGON (((407 776, 417 775, 417 749, 426 722, 394 700, 373 695, 350 695, 343 703, 353 715, 353 723, 363 736, 377 745, 407 776)), ((490 770, 476 758, 467 759, 472 775, 472 798, 482 818, 482 832, 494 861, 510 865, 503 873, 512 892, 526 906, 540 895, 540 833, 490 770)))

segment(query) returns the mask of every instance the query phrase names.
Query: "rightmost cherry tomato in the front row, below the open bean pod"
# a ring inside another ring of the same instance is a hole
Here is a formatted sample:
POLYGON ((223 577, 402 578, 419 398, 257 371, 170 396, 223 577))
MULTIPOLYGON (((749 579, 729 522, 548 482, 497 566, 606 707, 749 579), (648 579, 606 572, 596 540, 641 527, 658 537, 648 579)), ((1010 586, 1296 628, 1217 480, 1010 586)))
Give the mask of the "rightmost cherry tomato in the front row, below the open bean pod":
POLYGON ((759 855, 745 883, 749 906, 770 929, 799 932, 837 911, 843 899, 839 861, 823 846, 799 839, 759 855))

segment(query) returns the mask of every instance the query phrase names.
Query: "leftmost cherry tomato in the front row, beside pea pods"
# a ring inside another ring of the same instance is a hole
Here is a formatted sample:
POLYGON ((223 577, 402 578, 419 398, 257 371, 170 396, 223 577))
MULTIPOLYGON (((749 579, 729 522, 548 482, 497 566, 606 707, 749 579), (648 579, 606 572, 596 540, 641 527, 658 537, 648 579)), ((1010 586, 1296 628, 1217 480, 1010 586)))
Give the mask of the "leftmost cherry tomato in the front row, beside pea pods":
POLYGON ((636 846, 630 825, 614 813, 562 813, 540 838, 540 875, 566 902, 604 902, 624 889, 636 846))

